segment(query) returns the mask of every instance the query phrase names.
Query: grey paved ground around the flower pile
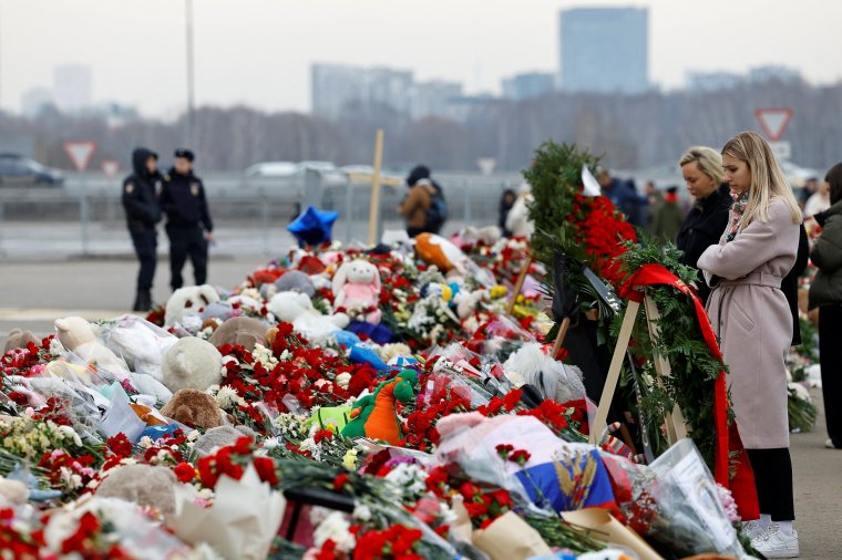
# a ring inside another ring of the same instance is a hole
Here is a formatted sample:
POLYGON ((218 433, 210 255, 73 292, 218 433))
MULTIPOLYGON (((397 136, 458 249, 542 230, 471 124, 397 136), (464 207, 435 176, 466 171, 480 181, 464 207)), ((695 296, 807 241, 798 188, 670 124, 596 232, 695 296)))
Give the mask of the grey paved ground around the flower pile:
MULTIPOLYGON (((209 280, 230 288, 266 262, 263 257, 212 257, 209 280)), ((61 315, 94 319, 124 313, 133 299, 136 265, 123 260, 0 261, 0 340, 9 329, 52 331, 61 315)), ((167 298, 165 259, 155 277, 156 301, 167 298)), ((189 279, 189 276, 185 278, 189 279)), ((812 392, 821 406, 821 393, 812 392)), ((797 528, 803 559, 842 559, 842 450, 823 448, 824 418, 792 436, 797 528)))

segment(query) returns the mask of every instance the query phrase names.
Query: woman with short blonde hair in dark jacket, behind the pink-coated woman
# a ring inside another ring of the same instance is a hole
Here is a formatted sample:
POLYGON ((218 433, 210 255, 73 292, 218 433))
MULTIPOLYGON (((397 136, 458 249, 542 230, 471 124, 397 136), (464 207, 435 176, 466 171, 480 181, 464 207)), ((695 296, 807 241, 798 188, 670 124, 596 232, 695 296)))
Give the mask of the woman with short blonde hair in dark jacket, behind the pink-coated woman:
MULTIPOLYGON (((713 148, 694 146, 681 159, 681 175, 687 190, 696 198, 696 204, 685 218, 676 237, 676 247, 684 251, 681 265, 698 268, 699 257, 705 249, 717 245, 728 225, 731 196, 723 184, 722 156, 713 148)), ((696 289, 702 303, 707 303, 710 288, 699 270, 696 289)))

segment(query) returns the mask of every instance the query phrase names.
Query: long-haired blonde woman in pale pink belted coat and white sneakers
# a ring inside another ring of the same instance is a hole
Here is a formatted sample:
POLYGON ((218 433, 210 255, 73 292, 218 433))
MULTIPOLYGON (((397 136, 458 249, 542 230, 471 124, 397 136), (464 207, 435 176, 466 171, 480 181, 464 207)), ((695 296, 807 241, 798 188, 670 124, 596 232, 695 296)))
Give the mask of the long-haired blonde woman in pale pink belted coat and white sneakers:
POLYGON ((767 558, 799 556, 789 454, 787 367, 792 315, 781 280, 795 262, 801 210, 769 144, 743 132, 722 148, 733 205, 719 243, 698 266, 713 289, 737 427, 754 471, 761 518, 746 530, 767 558))

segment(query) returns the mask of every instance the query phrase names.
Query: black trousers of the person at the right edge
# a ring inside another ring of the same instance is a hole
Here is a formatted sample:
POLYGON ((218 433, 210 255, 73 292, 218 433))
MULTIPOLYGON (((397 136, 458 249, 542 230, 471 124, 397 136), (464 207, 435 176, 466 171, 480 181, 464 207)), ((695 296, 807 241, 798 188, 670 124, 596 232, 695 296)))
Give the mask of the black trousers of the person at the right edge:
POLYGON ((819 309, 819 352, 822 366, 822 396, 828 435, 842 449, 842 305, 819 309))

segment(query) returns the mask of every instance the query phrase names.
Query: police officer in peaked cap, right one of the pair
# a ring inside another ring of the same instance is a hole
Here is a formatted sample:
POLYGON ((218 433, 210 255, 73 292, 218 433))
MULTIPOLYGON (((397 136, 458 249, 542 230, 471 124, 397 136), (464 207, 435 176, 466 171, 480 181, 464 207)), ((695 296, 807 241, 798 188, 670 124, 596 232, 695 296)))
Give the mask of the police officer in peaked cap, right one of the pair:
POLYGON ((207 210, 205 187, 193 175, 193 152, 175 151, 175 166, 164 177, 161 207, 166 212, 166 235, 170 238, 170 286, 177 290, 184 283, 182 269, 189 257, 196 286, 207 279, 207 243, 213 239, 214 225, 207 210), (204 230, 203 230, 204 228, 204 230))

